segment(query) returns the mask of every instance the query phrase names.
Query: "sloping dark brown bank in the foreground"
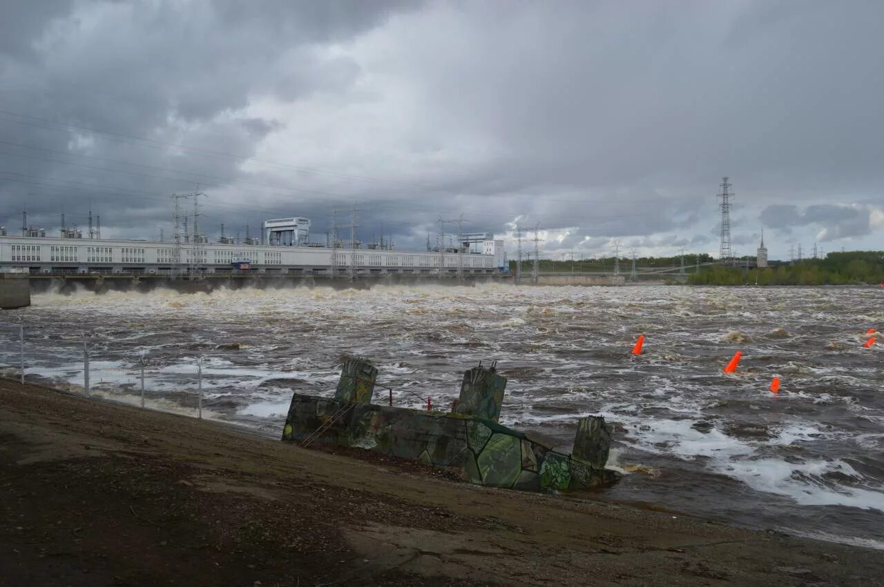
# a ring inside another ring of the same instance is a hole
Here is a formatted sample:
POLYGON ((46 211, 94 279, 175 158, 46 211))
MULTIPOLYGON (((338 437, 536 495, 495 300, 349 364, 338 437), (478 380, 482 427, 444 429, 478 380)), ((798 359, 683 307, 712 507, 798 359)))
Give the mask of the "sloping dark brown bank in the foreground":
POLYGON ((0 380, 0 587, 879 585, 884 572, 877 551, 371 455, 0 380))

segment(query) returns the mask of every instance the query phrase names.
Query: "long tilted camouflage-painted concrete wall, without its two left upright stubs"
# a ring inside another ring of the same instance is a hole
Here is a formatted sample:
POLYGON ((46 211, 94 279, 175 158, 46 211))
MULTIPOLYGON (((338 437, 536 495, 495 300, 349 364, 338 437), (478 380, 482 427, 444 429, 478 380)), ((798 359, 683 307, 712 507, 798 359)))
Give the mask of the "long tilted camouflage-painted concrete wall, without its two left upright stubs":
MULTIPOLYGON (((587 427, 610 428, 604 418, 587 427)), ((315 442, 367 448, 453 470, 476 485, 522 490, 580 489, 613 483, 619 476, 604 463, 589 463, 487 418, 456 413, 346 403, 294 394, 283 440, 301 441, 328 425, 315 442), (341 408, 350 408, 331 422, 341 408), (595 465, 595 466, 594 466, 595 465)), ((596 455, 607 448, 591 451, 596 455)))

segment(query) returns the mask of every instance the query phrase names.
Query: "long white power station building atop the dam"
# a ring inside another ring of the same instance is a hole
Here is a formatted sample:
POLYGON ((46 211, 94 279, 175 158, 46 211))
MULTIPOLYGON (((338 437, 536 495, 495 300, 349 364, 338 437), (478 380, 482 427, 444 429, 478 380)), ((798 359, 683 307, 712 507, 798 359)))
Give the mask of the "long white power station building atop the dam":
POLYGON ((360 274, 499 273, 506 264, 503 241, 483 253, 331 249, 315 246, 232 245, 53 237, 0 237, 0 269, 30 274, 178 275, 254 271, 332 275, 355 267, 360 274), (334 259, 332 259, 334 252, 334 259))

